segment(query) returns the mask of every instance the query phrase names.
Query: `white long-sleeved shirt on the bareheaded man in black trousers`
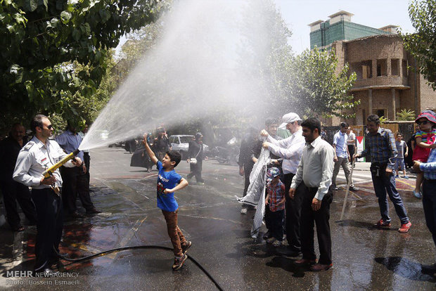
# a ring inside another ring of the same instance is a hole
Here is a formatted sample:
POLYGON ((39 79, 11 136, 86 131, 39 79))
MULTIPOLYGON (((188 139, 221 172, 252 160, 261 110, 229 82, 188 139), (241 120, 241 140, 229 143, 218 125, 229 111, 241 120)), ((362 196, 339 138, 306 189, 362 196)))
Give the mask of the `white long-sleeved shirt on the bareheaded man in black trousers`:
POLYGON ((298 164, 297 174, 295 174, 290 188, 296 189, 303 181, 307 187, 318 187, 315 198, 322 200, 328 187, 331 186, 334 156, 335 152, 332 146, 321 136, 312 143, 306 143, 302 159, 298 164))

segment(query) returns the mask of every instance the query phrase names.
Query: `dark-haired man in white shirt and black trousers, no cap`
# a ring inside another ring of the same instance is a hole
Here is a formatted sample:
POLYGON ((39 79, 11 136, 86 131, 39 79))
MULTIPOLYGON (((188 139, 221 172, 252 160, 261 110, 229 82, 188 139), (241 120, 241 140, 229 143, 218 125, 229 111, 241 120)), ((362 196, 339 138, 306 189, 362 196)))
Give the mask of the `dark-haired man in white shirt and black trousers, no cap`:
POLYGON ((301 251, 302 259, 295 261, 297 265, 309 265, 312 271, 326 271, 332 264, 330 205, 333 192, 330 190, 333 174, 333 148, 321 139, 321 122, 311 117, 301 124, 306 146, 302 159, 298 164, 289 189, 289 197, 294 198, 296 191, 302 191, 301 212, 301 251), (298 188, 298 190, 297 190, 298 188), (330 189, 329 189, 330 188, 330 189), (319 261, 316 264, 314 250, 314 224, 318 235, 319 261))

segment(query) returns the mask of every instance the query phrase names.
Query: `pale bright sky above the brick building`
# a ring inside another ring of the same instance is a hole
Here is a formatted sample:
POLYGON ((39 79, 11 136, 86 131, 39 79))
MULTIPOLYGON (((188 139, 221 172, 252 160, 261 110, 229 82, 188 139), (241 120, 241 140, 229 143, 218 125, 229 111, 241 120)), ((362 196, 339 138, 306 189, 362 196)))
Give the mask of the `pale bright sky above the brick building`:
POLYGON ((403 32, 413 32, 409 18, 409 0, 275 0, 283 19, 293 32, 290 44, 301 53, 310 46, 309 23, 328 20, 341 10, 353 13, 352 22, 380 28, 399 25, 403 32))

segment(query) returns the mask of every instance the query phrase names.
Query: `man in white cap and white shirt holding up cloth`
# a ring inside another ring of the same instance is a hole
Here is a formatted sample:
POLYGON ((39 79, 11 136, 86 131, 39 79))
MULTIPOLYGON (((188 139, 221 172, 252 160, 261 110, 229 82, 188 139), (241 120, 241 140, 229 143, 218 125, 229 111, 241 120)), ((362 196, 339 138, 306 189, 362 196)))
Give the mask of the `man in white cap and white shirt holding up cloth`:
MULTIPOLYGON (((283 183, 285 184, 285 193, 288 193, 290 183, 297 172, 298 164, 304 148, 304 137, 302 136, 301 122, 302 119, 297 113, 290 112, 282 117, 280 127, 286 127, 290 131, 288 138, 280 141, 270 136, 267 131, 261 132, 262 136, 267 136, 267 141, 263 147, 271 153, 283 158, 283 183)), ((291 251, 290 257, 296 257, 301 254, 300 243, 300 213, 301 213, 302 195, 297 193, 294 199, 286 195, 286 239, 288 248, 291 251)))

